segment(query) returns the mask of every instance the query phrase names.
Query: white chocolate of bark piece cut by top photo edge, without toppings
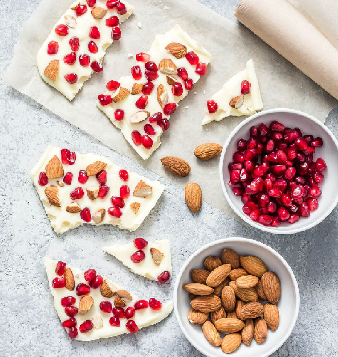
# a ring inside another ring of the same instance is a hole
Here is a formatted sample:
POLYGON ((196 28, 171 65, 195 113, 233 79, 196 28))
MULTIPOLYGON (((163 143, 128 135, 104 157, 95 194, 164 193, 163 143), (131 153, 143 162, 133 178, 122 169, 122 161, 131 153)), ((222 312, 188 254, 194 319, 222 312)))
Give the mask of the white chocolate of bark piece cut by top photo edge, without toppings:
POLYGON ((130 4, 125 1, 123 1, 123 4, 126 7, 126 13, 120 15, 117 13, 116 7, 113 9, 107 8, 106 0, 96 0, 96 4, 92 7, 90 7, 85 0, 76 0, 73 2, 70 5, 70 8, 60 17, 59 21, 57 21, 51 33, 37 52, 36 62, 42 79, 44 79, 48 84, 57 89, 59 92, 64 94, 67 99, 72 100, 84 85, 84 82, 89 79, 91 74, 94 72, 91 69, 90 64, 94 61, 97 61, 99 64, 101 64, 102 59, 106 54, 106 49, 113 43, 112 27, 106 25, 106 19, 111 16, 117 16, 121 23, 133 13, 134 8, 130 4), (79 3, 80 5, 86 6, 87 11, 83 15, 77 16, 76 11, 71 8, 76 7, 79 3), (94 12, 94 15, 92 15, 92 11, 95 11, 93 10, 95 8, 101 8, 104 11, 101 14, 98 13, 97 15, 94 12), (97 16, 99 17, 95 18, 97 16), (58 25, 68 26, 68 34, 66 36, 59 36, 56 34, 55 28, 58 25), (97 27, 100 32, 100 38, 89 37, 90 29, 92 26, 97 27), (69 40, 73 37, 77 37, 79 39, 79 49, 75 52, 75 63, 70 65, 64 62, 64 56, 72 52, 69 40), (47 52, 48 44, 50 41, 57 41, 59 45, 59 50, 55 54, 48 54, 47 52), (89 51, 88 44, 90 41, 95 42, 97 46, 96 53, 89 51), (79 62, 79 56, 84 54, 90 56, 89 65, 87 66, 80 65, 79 62), (44 74, 46 67, 53 60, 59 61, 59 70, 57 72, 55 81, 44 74), (65 75, 72 73, 77 75, 77 80, 73 84, 67 82, 64 77, 65 75))

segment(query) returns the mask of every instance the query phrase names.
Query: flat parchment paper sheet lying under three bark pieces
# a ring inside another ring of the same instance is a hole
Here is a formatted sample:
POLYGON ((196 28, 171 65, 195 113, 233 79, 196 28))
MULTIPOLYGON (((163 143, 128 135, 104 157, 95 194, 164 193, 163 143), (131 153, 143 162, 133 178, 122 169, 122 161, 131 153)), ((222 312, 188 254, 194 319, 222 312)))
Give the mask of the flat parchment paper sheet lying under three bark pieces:
MULTIPOLYGON (((324 122, 328 112, 336 105, 336 100, 251 31, 223 18, 195 0, 130 2, 135 6, 135 15, 121 25, 121 40, 114 42, 107 50, 104 71, 94 74, 86 81, 72 102, 40 78, 35 59, 37 50, 71 0, 41 1, 39 8, 22 29, 4 80, 103 144, 177 185, 184 187, 187 182, 197 182, 206 202, 237 218, 227 205, 221 190, 218 159, 200 161, 193 152, 197 145, 205 142, 223 145, 230 132, 244 118, 230 117, 202 126, 207 99, 237 71, 242 70, 246 61, 253 58, 264 109, 289 107, 312 114, 324 122), (165 6, 169 9, 163 10, 165 6), (50 11, 51 8, 53 11, 50 11), (137 27, 139 21, 142 29, 137 27), (36 26, 37 23, 39 26, 36 26), (182 26, 183 30, 200 41, 213 58, 208 66, 208 75, 198 81, 194 90, 180 102, 172 115, 170 129, 162 136, 162 145, 150 159, 143 161, 127 144, 120 131, 97 109, 95 100, 105 90, 109 80, 118 80, 120 76, 130 73, 135 57, 128 59, 128 53, 135 56, 137 52, 147 51, 157 33, 164 33, 175 24, 182 26), (189 108, 185 109, 185 106, 189 108), (188 177, 173 177, 164 170, 160 159, 169 155, 179 156, 190 163, 191 173, 188 177)), ((79 147, 71 149, 81 150, 79 147)))

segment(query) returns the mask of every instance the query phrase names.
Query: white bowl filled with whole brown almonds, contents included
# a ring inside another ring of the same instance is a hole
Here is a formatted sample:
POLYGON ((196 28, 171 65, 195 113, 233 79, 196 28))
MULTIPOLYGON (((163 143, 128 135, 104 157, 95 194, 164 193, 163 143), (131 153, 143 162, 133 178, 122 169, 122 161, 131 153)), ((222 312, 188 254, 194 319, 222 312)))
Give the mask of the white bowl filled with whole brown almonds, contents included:
POLYGON ((181 330, 209 357, 271 355, 290 336, 299 302, 288 263, 248 238, 201 247, 182 266, 174 289, 181 330))

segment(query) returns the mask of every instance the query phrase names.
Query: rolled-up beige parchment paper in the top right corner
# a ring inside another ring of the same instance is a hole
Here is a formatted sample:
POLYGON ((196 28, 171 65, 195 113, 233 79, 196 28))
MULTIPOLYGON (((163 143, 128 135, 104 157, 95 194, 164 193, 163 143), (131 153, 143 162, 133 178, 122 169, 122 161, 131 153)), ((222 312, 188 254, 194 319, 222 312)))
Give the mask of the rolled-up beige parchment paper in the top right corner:
POLYGON ((287 0, 242 0, 237 19, 338 99, 338 50, 287 0))

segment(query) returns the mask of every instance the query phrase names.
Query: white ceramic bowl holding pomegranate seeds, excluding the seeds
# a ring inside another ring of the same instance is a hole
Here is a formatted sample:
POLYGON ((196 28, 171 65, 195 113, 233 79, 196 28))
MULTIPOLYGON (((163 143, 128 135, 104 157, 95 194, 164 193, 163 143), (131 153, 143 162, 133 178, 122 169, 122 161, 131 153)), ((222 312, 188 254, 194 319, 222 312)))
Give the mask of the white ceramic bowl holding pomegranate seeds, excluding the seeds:
POLYGON ((262 231, 275 234, 298 233, 316 226, 326 218, 337 205, 338 142, 332 132, 311 115, 298 110, 284 108, 264 110, 248 117, 232 131, 223 146, 220 156, 219 174, 226 200, 237 215, 249 223, 249 225, 262 231), (251 218, 242 211, 243 203, 241 197, 235 196, 232 192, 233 186, 227 185, 229 182, 228 164, 232 162, 232 155, 237 150, 238 140, 241 138, 245 140, 248 139, 251 126, 258 126, 261 123, 269 126, 273 120, 277 120, 292 129, 299 127, 303 135, 312 134, 314 137, 322 137, 324 145, 316 149, 314 160, 317 160, 318 157, 322 157, 327 164, 327 169, 323 172, 325 177, 320 186, 322 195, 318 198, 318 209, 311 212, 309 217, 301 217, 296 223, 289 224, 288 222, 283 222, 278 227, 263 226, 258 222, 252 221, 251 218))

